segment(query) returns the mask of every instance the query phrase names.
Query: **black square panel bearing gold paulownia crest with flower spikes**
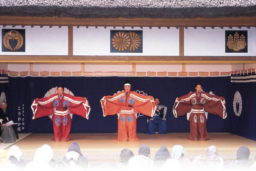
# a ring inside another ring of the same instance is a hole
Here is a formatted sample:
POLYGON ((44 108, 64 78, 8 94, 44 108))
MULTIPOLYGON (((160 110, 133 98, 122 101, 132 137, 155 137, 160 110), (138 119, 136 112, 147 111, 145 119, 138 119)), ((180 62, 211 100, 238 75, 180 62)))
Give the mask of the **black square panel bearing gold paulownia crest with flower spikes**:
POLYGON ((226 53, 247 53, 247 30, 226 30, 225 31, 225 52, 226 53))

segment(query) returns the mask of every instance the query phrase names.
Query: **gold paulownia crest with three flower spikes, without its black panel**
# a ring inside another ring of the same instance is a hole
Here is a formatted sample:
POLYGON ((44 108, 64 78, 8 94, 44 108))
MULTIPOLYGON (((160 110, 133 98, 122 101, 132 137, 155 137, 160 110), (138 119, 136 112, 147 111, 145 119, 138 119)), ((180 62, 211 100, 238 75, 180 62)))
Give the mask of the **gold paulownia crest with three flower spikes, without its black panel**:
POLYGON ((234 34, 234 37, 232 34, 229 34, 227 46, 229 49, 233 49, 234 51, 244 49, 246 46, 244 34, 242 34, 240 37, 237 32, 234 34))

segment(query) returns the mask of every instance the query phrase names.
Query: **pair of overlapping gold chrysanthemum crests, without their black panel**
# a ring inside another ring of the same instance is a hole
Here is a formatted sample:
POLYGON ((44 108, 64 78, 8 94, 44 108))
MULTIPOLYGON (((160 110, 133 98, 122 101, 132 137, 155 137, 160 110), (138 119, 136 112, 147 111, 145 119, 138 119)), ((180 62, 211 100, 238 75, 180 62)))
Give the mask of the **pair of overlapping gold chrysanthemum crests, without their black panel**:
POLYGON ((112 45, 118 51, 130 50, 135 51, 140 47, 141 39, 136 32, 117 32, 112 37, 112 45))

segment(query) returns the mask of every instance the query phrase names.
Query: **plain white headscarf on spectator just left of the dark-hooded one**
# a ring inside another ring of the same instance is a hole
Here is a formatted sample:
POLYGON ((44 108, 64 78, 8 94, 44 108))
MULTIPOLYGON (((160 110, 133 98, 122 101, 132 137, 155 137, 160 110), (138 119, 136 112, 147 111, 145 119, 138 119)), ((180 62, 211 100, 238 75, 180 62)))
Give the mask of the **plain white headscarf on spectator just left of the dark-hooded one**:
POLYGON ((52 160, 52 156, 52 148, 49 145, 44 144, 36 150, 34 161, 44 161, 49 163, 49 161, 52 160))

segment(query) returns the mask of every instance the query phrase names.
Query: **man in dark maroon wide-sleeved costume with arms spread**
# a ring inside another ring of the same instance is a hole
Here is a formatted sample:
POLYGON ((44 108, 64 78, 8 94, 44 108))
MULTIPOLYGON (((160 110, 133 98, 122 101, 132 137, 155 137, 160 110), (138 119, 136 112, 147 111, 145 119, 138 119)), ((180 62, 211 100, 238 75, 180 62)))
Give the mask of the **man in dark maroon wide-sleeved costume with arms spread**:
POLYGON ((209 140, 206 130, 207 113, 225 119, 227 117, 225 100, 223 97, 201 92, 200 82, 196 83, 195 89, 195 92, 176 98, 173 114, 176 118, 188 114, 189 140, 209 140))

